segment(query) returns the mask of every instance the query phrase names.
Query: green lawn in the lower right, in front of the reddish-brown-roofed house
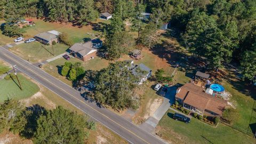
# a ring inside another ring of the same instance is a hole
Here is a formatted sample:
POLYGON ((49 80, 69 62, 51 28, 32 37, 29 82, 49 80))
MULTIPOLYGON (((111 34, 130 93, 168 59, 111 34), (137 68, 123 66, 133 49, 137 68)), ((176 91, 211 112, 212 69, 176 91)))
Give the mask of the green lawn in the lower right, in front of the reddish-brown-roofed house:
POLYGON ((175 121, 174 111, 168 110, 159 121, 157 130, 162 138, 173 143, 255 143, 256 140, 221 123, 217 128, 192 118, 189 124, 175 121), (204 138, 203 138, 204 137, 204 138))

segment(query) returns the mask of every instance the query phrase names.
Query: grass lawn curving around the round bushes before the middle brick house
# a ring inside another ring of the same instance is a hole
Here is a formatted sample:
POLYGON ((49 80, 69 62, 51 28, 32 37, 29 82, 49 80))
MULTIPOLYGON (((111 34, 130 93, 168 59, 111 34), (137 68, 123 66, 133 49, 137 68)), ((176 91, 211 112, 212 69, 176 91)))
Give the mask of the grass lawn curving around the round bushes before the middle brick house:
POLYGON ((49 73, 50 75, 60 79, 62 82, 70 86, 72 85, 72 82, 68 81, 66 77, 61 76, 58 73, 58 68, 61 68, 61 66, 63 66, 65 62, 71 62, 71 63, 81 62, 85 70, 100 70, 102 68, 106 68, 109 63, 109 61, 105 59, 101 59, 99 57, 94 57, 94 59, 87 60, 87 61, 82 61, 77 58, 71 58, 70 60, 67 61, 64 58, 59 58, 43 66, 43 70, 46 71, 46 73, 49 73))

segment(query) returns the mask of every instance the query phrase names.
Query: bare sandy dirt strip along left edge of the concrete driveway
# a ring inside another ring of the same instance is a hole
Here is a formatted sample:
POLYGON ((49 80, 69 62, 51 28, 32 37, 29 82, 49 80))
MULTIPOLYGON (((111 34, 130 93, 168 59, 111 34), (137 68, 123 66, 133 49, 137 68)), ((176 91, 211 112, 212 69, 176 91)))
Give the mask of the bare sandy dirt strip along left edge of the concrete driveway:
POLYGON ((155 99, 153 102, 151 101, 152 99, 150 99, 147 104, 148 113, 143 117, 145 119, 148 119, 149 116, 153 116, 157 108, 163 103, 163 99, 161 98, 155 99))

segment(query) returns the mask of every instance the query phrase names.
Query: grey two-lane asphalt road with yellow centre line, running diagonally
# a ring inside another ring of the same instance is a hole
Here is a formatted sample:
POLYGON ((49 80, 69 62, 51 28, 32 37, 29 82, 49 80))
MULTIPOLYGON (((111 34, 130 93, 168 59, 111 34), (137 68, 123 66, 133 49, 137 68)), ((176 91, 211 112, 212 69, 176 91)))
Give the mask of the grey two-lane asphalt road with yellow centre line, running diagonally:
MULTIPOLYGON (((0 47, 0 59, 11 65, 17 65, 15 68, 22 71, 22 73, 35 79, 35 81, 58 94, 61 98, 67 100, 78 109, 81 109, 84 113, 105 125, 128 142, 165 143, 112 111, 98 107, 95 102, 86 101, 81 97, 81 94, 72 87, 45 73, 43 70, 32 65, 28 61, 21 59, 3 47, 0 47)), ((58 101, 55 102, 58 103, 58 101)))

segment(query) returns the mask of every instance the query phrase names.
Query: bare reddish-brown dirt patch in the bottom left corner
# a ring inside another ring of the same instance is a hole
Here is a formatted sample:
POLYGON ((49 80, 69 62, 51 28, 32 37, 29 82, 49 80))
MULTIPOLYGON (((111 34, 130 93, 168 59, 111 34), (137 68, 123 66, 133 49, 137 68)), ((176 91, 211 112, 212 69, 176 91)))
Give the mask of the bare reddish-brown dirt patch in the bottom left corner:
POLYGON ((0 144, 32 144, 33 142, 28 139, 22 139, 19 134, 13 134, 11 132, 2 132, 0 134, 0 144))

